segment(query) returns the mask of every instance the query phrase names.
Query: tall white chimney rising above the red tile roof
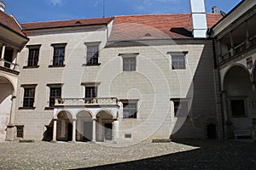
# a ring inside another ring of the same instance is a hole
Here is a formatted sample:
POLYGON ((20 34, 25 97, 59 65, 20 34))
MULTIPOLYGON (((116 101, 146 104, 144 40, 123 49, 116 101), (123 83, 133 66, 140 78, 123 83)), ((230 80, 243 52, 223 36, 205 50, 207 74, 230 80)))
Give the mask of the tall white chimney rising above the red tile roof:
POLYGON ((207 14, 204 0, 190 0, 192 34, 195 38, 207 37, 207 14))

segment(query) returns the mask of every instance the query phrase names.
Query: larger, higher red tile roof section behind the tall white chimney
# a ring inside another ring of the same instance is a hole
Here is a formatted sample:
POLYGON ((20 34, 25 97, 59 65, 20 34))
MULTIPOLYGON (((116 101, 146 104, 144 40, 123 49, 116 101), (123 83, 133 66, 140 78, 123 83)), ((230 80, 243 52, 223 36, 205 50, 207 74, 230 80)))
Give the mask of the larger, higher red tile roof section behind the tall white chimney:
MULTIPOLYGON (((222 16, 207 14, 207 26, 222 16)), ((190 14, 142 14, 116 16, 109 41, 192 37, 190 14), (147 35, 146 35, 147 34, 147 35)))

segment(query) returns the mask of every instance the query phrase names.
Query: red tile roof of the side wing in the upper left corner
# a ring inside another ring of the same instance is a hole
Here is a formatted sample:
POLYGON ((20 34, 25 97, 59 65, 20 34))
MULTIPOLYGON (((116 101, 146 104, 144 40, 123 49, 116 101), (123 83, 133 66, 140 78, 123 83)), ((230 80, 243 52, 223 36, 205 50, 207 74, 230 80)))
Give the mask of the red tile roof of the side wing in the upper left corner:
POLYGON ((9 30, 14 31, 22 37, 26 35, 21 31, 20 26, 16 23, 14 17, 9 14, 4 13, 0 10, 0 24, 7 27, 9 30))

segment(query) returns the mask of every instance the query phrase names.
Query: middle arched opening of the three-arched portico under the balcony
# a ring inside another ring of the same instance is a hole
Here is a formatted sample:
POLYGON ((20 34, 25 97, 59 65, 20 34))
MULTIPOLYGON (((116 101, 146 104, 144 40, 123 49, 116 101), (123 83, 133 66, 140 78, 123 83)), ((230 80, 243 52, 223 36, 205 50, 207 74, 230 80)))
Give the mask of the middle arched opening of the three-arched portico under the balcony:
POLYGON ((88 111, 80 111, 77 115, 77 141, 92 140, 92 117, 88 111))

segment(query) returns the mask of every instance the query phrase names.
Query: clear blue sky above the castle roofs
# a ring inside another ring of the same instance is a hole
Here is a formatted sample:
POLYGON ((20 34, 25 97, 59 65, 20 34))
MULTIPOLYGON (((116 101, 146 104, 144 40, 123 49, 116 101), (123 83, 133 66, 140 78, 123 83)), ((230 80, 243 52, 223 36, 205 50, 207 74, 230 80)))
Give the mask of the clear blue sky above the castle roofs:
MULTIPOLYGON (((14 14, 21 23, 45 20, 70 20, 102 17, 103 0, 3 0, 6 13, 14 14)), ((229 12, 241 0, 205 0, 229 12)), ((105 0, 105 15, 189 13, 189 0, 105 0)))

